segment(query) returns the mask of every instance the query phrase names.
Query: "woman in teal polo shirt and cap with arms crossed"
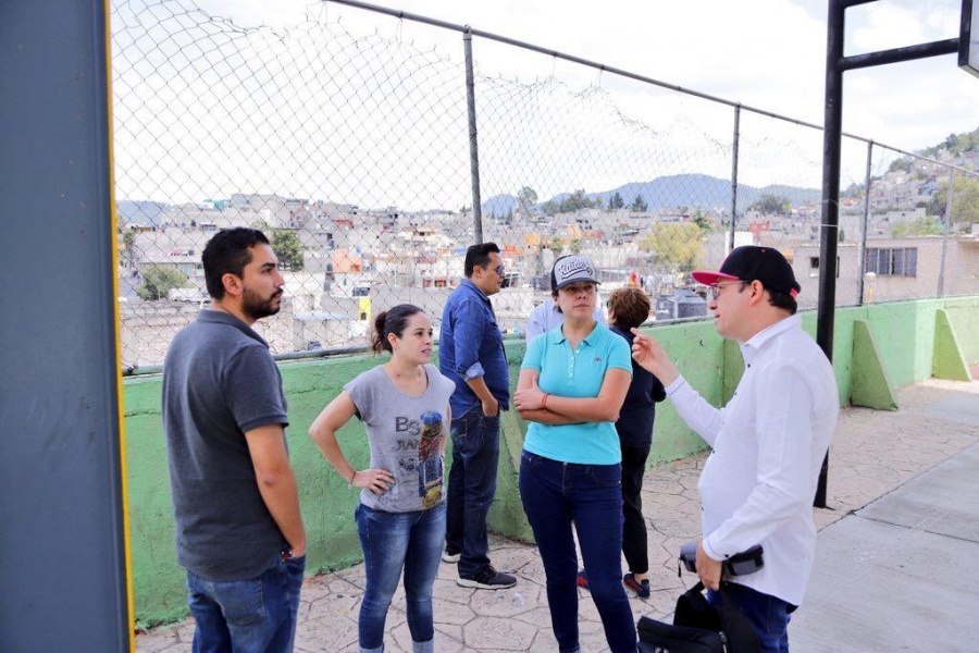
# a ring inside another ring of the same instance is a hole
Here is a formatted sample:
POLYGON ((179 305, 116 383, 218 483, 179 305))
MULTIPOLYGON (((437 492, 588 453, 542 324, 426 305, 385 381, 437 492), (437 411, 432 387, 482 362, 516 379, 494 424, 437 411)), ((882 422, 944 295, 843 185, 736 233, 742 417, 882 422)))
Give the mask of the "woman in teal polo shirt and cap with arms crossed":
POLYGON ((597 323, 595 266, 555 261, 552 288, 562 326, 534 338, 515 405, 530 421, 520 463, 520 496, 544 571, 560 651, 578 651, 578 533, 588 589, 612 653, 635 651, 635 625, 622 587, 621 453, 615 422, 632 377, 624 340, 597 323))

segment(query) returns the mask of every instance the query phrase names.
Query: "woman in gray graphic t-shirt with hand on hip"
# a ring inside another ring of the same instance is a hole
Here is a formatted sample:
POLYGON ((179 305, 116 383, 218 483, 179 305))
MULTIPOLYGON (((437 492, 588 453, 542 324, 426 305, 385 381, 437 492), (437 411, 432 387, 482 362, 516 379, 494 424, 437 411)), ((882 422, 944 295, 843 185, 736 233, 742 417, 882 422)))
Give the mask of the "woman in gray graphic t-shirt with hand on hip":
POLYGON ((379 315, 371 345, 389 352, 391 360, 344 385, 309 434, 348 485, 361 488, 355 512, 367 569, 360 650, 383 650, 387 608, 404 569, 413 650, 434 651, 432 584, 445 542, 443 452, 455 384, 429 364, 432 321, 417 306, 379 315), (354 416, 367 430, 368 469, 355 469, 336 441, 354 416))

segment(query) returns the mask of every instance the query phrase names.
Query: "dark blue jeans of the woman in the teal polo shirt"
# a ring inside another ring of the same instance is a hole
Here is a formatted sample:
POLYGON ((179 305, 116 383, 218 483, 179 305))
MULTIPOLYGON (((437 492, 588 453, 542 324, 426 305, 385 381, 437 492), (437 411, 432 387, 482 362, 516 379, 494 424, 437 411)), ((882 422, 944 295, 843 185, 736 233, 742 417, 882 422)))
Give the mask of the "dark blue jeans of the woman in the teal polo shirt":
POLYGON ((635 620, 622 587, 619 465, 575 465, 524 451, 520 497, 547 576, 550 624, 560 651, 578 651, 578 553, 612 653, 635 651, 635 620))

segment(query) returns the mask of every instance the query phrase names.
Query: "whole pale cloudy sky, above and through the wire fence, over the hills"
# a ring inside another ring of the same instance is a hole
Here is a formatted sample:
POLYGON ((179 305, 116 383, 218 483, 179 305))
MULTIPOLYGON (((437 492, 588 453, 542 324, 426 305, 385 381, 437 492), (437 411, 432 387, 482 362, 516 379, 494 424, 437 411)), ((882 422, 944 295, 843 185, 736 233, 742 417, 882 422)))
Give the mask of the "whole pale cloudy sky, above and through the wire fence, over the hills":
MULTIPOLYGON (((823 121, 825 1, 391 2, 823 121)), ((955 37, 959 11, 961 0, 851 9, 846 53, 955 37)), ((408 210, 471 200, 460 174, 469 153, 459 33, 310 0, 119 0, 113 21, 121 198, 275 193, 408 210)), ((580 187, 731 173, 728 106, 484 38, 473 52, 484 201, 525 184, 543 201, 580 187)), ((908 151, 975 130, 976 107, 979 78, 953 56, 844 77, 844 131, 908 151)), ((748 111, 740 128, 741 183, 820 186, 819 132, 748 111)), ((877 151, 880 173, 889 160, 877 151)), ((844 188, 863 181, 865 161, 866 146, 844 141, 844 188)))

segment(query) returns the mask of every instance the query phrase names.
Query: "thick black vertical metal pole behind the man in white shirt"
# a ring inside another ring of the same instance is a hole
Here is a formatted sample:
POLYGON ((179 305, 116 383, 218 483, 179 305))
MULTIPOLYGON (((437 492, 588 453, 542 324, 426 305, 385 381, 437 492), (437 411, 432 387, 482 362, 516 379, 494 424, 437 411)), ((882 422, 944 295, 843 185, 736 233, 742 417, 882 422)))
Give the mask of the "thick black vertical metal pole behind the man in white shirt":
MULTIPOLYGON (((840 152, 843 139, 843 27, 845 7, 829 0, 826 44, 826 114, 822 132, 822 225, 819 236, 819 297, 816 343, 833 359, 833 311, 837 296, 837 242, 840 223, 840 152)), ((826 507, 829 454, 822 460, 815 505, 826 507)))

